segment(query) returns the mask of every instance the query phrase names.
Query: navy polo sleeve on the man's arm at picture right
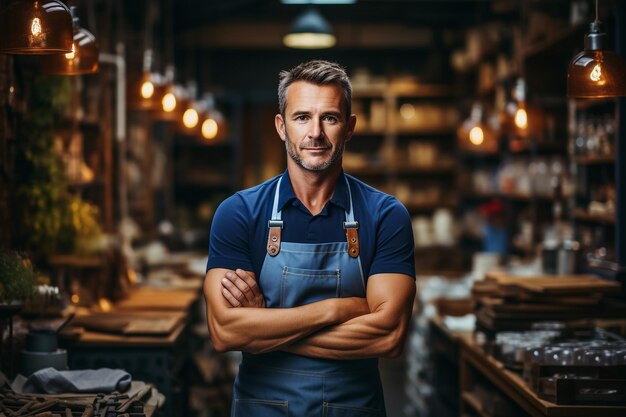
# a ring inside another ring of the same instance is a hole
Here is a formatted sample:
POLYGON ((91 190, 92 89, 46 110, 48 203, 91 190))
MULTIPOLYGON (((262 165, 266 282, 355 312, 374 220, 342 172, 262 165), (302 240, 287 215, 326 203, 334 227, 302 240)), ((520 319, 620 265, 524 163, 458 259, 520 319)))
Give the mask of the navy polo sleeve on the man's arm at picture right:
POLYGON ((387 273, 415 277, 414 248, 411 217, 395 197, 389 196, 382 204, 377 222, 370 275, 387 273))

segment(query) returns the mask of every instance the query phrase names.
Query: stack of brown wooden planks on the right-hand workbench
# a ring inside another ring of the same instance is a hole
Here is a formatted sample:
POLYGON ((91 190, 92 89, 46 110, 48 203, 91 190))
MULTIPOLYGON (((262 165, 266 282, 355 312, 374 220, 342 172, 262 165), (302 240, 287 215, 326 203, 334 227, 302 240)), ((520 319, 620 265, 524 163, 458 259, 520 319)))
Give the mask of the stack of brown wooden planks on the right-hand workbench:
POLYGON ((594 275, 487 274, 472 289, 476 319, 487 330, 524 330, 533 323, 626 317, 626 304, 609 299, 621 285, 594 275))

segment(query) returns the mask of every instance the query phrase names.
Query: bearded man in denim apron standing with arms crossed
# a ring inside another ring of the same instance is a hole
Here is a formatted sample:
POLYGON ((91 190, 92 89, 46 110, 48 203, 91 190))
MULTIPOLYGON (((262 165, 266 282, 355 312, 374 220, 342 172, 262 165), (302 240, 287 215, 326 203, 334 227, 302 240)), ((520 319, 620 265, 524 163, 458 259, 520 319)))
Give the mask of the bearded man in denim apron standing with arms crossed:
POLYGON ((378 357, 415 296, 406 209, 342 170, 352 86, 337 64, 280 74, 287 170, 215 213, 204 293, 218 351, 241 350, 234 417, 385 416, 378 357))

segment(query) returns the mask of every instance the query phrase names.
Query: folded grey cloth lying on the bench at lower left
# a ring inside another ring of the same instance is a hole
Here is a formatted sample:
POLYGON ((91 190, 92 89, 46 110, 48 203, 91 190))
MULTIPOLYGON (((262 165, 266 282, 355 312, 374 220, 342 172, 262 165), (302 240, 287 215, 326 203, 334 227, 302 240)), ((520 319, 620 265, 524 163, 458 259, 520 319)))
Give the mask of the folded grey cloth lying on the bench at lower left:
POLYGON ((44 368, 33 373, 24 383, 22 392, 62 394, 69 392, 124 392, 132 377, 123 369, 86 369, 58 371, 44 368))

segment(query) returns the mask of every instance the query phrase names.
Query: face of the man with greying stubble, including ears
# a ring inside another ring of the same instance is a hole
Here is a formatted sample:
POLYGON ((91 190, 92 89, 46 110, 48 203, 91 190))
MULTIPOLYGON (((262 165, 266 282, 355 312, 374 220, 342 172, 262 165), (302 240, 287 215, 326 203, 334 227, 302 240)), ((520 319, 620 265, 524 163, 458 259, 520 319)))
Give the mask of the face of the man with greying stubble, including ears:
POLYGON ((276 130, 291 161, 307 171, 341 164, 356 123, 354 116, 346 117, 343 99, 334 84, 296 81, 289 86, 285 116, 276 115, 276 130))

